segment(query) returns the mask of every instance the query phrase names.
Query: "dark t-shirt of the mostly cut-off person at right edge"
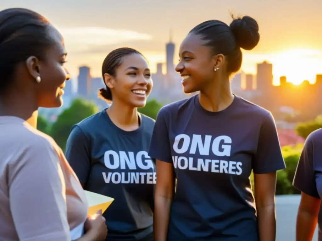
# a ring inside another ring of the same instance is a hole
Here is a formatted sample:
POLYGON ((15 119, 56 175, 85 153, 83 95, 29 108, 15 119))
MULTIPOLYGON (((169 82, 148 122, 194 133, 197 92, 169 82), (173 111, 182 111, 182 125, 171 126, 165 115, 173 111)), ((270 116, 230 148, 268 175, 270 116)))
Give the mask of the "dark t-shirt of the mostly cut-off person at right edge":
MULTIPOLYGON (((313 131, 305 140, 296 168, 293 186, 305 194, 322 197, 322 129, 313 131)), ((322 241, 322 204, 318 218, 318 240, 322 241)))

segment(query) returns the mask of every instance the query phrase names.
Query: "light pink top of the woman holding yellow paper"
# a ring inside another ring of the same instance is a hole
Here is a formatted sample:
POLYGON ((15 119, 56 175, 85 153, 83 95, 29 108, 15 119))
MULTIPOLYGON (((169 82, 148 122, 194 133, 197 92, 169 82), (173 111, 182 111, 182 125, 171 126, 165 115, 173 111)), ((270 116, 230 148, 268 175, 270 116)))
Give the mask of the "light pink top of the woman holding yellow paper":
POLYGON ((71 241, 87 212, 55 141, 20 118, 0 117, 0 240, 71 241))

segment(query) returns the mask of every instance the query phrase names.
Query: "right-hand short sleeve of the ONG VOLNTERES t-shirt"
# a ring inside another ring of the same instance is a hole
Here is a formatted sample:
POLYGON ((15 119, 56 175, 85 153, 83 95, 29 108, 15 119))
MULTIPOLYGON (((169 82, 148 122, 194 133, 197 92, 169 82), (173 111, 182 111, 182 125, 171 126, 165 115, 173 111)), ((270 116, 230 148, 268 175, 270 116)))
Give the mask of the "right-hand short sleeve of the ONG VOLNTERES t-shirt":
POLYGON ((259 132, 257 150, 253 160, 254 174, 265 174, 285 168, 275 121, 267 114, 259 132))

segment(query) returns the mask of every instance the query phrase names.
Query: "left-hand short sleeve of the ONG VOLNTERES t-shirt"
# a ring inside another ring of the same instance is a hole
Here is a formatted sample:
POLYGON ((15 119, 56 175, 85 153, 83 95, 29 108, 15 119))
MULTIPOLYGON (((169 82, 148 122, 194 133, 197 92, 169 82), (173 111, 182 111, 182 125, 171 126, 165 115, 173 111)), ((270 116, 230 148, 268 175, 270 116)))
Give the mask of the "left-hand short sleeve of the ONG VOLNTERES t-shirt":
POLYGON ((162 107, 156 116, 156 123, 154 124, 150 142, 149 156, 160 161, 172 163, 169 130, 165 112, 166 110, 162 107))

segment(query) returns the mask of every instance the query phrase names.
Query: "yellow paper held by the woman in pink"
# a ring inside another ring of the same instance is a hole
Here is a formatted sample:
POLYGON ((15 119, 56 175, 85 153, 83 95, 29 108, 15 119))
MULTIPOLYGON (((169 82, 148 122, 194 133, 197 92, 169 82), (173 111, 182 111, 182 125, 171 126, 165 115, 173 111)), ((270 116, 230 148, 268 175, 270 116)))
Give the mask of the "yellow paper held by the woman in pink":
POLYGON ((104 196, 95 192, 89 192, 84 190, 87 201, 88 201, 88 216, 93 216, 99 210, 102 210, 102 213, 107 210, 109 205, 114 201, 114 198, 104 196))

